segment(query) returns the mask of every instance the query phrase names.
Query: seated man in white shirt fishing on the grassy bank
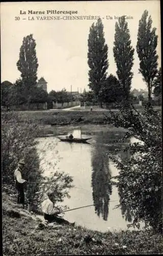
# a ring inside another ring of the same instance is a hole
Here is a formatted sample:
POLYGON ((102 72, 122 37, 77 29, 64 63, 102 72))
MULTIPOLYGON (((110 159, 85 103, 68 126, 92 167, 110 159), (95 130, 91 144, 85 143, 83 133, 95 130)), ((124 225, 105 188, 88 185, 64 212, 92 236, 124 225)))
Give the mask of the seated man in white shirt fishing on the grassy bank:
POLYGON ((43 211, 43 214, 44 214, 44 219, 46 221, 48 221, 49 223, 50 222, 57 222, 57 223, 60 223, 60 224, 67 224, 67 225, 72 225, 74 226, 75 225, 75 222, 73 223, 70 223, 68 222, 67 220, 59 217, 58 215, 60 214, 59 211, 56 211, 54 208, 53 208, 53 193, 51 191, 49 191, 47 193, 47 196, 48 198, 45 199, 41 206, 42 206, 42 211, 43 211))

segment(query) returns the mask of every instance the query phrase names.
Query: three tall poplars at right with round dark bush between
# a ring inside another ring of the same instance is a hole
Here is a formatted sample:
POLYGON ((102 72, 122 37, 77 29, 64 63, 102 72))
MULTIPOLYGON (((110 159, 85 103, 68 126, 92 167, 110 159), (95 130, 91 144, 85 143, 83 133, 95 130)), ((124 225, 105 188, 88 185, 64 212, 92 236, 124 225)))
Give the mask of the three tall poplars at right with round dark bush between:
MULTIPOLYGON (((139 72, 148 88, 148 101, 151 104, 151 93, 160 93, 160 69, 156 54, 156 28, 152 28, 151 16, 145 10, 140 21, 137 38, 137 54, 140 59, 139 72)), ((117 77, 107 76, 108 47, 105 44, 103 25, 99 18, 90 27, 88 38, 89 87, 102 106, 102 102, 128 100, 130 97, 134 49, 131 46, 130 34, 125 17, 119 18, 115 26, 114 58, 117 66, 117 77), (115 97, 114 97, 115 95, 115 97)))

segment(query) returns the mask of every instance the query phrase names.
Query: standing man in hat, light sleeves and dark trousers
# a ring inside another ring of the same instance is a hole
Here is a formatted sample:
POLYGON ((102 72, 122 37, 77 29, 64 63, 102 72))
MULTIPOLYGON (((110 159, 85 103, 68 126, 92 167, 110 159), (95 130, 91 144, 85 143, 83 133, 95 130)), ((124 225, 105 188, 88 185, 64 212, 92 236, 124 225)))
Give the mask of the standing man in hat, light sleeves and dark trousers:
POLYGON ((24 198, 24 183, 26 180, 22 179, 22 170, 24 168, 24 159, 21 159, 18 162, 18 167, 14 172, 14 180, 15 180, 15 187, 18 191, 17 203, 22 204, 24 208, 25 198, 24 198))

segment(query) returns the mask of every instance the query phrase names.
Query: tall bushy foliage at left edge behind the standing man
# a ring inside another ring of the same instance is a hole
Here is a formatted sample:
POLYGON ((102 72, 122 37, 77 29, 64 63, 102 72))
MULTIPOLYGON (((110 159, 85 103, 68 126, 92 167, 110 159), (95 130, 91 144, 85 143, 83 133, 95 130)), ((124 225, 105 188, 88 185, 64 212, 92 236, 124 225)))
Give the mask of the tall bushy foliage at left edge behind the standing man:
MULTIPOLYGON (((2 178, 3 185, 14 187, 13 174, 19 159, 24 158, 24 178, 28 181, 40 181, 42 170, 39 168, 39 158, 34 140, 37 125, 28 120, 19 123, 15 113, 2 113, 2 178)), ((33 199, 38 185, 30 187, 28 198, 33 199)))

